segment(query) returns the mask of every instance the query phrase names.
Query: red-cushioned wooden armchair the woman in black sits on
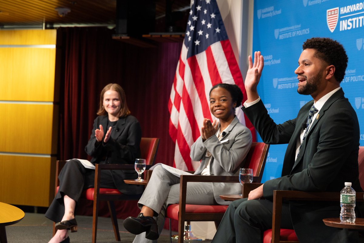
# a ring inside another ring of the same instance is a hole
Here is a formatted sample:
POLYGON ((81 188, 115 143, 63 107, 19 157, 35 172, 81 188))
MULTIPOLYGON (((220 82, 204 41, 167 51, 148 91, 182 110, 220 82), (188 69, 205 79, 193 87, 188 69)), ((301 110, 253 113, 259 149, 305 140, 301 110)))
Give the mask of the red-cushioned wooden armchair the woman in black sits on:
MULTIPOLYGON (((141 157, 146 159, 147 169, 150 168, 155 160, 155 155, 157 153, 159 144, 159 138, 142 138, 140 149, 141 157)), ((57 161, 56 163, 56 188, 55 194, 58 192, 58 175, 64 164, 67 161, 57 161)), ((100 188, 100 177, 101 170, 133 170, 134 165, 120 165, 120 164, 96 164, 95 165, 95 185, 94 188, 88 188, 83 192, 82 197, 87 200, 94 201, 93 213, 92 213, 92 243, 96 242, 97 235, 97 222, 99 214, 99 203, 100 201, 107 201, 107 205, 110 212, 112 226, 114 228, 115 239, 120 241, 118 220, 116 219, 116 211, 114 201, 119 200, 137 200, 141 197, 138 195, 125 195, 122 194, 116 188, 100 188)), ((54 225, 54 224, 53 224, 54 225)), ((56 229, 54 227, 53 234, 55 234, 56 229)))

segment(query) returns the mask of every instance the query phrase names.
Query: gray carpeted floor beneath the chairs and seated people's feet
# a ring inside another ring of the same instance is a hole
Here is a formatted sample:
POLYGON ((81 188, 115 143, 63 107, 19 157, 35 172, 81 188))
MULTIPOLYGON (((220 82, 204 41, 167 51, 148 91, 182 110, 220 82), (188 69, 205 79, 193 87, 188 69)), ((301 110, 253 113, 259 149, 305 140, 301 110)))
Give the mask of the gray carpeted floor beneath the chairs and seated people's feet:
MULTIPOLYGON (((76 216, 78 232, 70 233, 71 242, 91 242, 92 217, 76 216)), ((123 220, 119 219, 119 230, 122 243, 131 243, 134 235, 123 227, 123 220)), ((47 243, 52 237, 53 222, 40 213, 25 213, 25 217, 19 223, 6 226, 8 243, 47 243)), ((172 234, 177 234, 172 232, 172 234)), ((97 242, 116 243, 110 218, 99 217, 97 242)), ((169 231, 163 230, 158 243, 169 242, 169 231)), ((177 240, 172 240, 176 243, 177 240)), ((193 240, 185 242, 210 243, 211 240, 193 240)))

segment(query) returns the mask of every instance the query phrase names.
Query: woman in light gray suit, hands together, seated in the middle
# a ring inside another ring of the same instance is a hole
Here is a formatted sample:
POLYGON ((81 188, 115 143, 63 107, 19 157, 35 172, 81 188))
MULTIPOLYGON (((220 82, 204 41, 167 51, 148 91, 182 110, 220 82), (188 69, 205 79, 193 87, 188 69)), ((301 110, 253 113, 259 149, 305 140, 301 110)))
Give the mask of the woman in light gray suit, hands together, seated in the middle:
MULTIPOLYGON (((238 174, 239 165, 252 145, 252 133, 235 115, 235 108, 241 105, 242 99, 243 94, 236 85, 220 83, 210 90, 210 110, 219 120, 211 122, 205 118, 201 136, 191 146, 191 158, 201 160, 195 175, 238 174)), ((186 203, 229 204, 220 199, 222 192, 238 194, 241 185, 191 182, 187 184, 186 203)), ((128 217, 123 223, 126 230, 137 235, 134 242, 156 242, 163 229, 166 208, 175 203, 179 203, 179 177, 162 166, 156 166, 138 202, 141 213, 137 217, 128 217)))

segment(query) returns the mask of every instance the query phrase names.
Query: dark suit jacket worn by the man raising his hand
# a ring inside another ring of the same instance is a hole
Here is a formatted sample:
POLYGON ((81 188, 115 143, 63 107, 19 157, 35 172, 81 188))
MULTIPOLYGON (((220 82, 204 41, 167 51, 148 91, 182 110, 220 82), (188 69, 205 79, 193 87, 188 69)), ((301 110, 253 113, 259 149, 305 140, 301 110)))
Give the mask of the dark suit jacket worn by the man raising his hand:
POLYGON ((307 119, 312 103, 302 107, 297 118, 279 125, 269 117, 261 101, 244 110, 263 141, 270 144, 288 142, 282 177, 264 183, 266 199, 273 198, 273 190, 337 192, 345 181, 352 181, 353 187, 361 191, 357 167, 359 122, 342 90, 325 102, 294 160, 301 132, 301 126, 295 123, 301 124, 307 119))

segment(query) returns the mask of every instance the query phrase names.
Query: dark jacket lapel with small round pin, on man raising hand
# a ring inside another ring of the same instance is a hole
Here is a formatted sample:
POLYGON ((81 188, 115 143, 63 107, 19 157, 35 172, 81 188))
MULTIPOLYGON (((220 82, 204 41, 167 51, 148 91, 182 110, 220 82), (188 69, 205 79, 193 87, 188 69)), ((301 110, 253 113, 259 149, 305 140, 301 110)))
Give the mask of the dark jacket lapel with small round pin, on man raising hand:
MULTIPOLYGON (((329 109, 329 107, 332 105, 332 103, 335 102, 337 99, 343 97, 343 96, 344 96, 343 89, 340 89, 340 90, 336 91, 333 95, 331 95, 331 97, 325 102, 324 106, 318 112, 318 114, 316 116, 316 119, 314 119, 312 121, 312 125, 310 127, 310 130, 307 132, 306 137, 308 137, 313 132, 313 130, 316 127, 316 124, 320 121, 320 118, 322 118, 324 116, 325 111, 327 111, 329 109)), ((307 111, 307 114, 308 114, 308 111, 307 111)), ((298 154, 297 160, 294 162, 294 166, 292 168, 292 171, 299 164, 299 162, 301 162, 302 157, 304 155, 304 150, 306 149, 306 146, 307 146, 307 142, 308 142, 308 139, 305 139, 303 141, 303 144, 302 144, 302 147, 301 147, 302 151, 298 154)), ((310 148, 307 148, 307 149, 310 149, 310 148)))

